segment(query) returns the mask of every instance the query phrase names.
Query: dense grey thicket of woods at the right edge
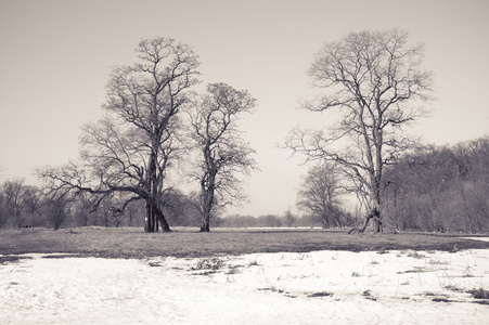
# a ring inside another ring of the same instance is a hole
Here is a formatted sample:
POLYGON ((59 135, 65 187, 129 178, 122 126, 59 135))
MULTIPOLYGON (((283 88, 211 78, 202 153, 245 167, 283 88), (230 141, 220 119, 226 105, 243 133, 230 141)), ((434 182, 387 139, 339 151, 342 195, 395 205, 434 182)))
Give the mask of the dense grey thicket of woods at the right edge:
POLYGON ((399 229, 489 231, 489 136, 424 146, 384 174, 384 218, 399 229))

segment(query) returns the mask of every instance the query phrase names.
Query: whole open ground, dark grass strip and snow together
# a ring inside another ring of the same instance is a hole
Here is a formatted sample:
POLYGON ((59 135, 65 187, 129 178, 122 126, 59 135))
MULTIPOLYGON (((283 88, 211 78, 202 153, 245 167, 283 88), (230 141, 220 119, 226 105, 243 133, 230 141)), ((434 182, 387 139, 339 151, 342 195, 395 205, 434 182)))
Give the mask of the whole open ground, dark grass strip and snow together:
POLYGON ((0 231, 0 324, 484 324, 488 288, 447 234, 0 231))

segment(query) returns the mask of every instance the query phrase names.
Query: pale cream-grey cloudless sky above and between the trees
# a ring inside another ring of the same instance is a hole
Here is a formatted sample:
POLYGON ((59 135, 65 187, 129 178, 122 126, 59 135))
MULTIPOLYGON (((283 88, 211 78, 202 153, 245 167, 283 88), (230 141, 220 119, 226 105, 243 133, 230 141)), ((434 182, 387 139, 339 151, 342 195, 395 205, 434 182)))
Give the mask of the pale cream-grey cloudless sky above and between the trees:
POLYGON ((438 101, 413 131, 440 145, 489 134, 487 0, 0 0, 0 182, 36 183, 36 166, 76 159, 110 67, 134 63, 138 42, 160 36, 194 48, 204 84, 257 99, 241 125, 261 171, 248 179, 250 203, 229 212, 282 214, 307 167, 276 145, 329 118, 299 108, 317 91, 306 75, 313 55, 349 31, 393 27, 426 44, 435 73, 438 101))

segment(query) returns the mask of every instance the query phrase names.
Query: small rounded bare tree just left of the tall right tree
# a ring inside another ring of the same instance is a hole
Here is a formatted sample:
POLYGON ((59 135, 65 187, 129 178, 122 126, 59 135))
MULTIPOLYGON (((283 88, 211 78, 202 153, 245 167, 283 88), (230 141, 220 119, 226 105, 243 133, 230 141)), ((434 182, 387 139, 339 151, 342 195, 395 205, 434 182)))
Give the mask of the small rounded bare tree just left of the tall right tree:
POLYGON ((303 181, 297 206, 323 227, 340 226, 338 172, 331 162, 312 167, 303 181))

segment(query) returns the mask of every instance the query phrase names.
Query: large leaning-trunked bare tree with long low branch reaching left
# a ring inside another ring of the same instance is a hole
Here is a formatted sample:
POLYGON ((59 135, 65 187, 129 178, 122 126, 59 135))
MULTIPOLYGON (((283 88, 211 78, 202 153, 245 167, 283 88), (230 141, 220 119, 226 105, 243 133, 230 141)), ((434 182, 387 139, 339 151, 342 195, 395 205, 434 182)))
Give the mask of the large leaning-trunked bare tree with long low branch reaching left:
POLYGON ((80 162, 38 170, 52 195, 88 192, 95 203, 115 192, 123 206, 145 202, 145 231, 170 231, 162 207, 170 191, 168 170, 179 153, 179 112, 198 82, 197 55, 172 39, 142 40, 139 62, 114 67, 105 116, 83 128, 80 162))

